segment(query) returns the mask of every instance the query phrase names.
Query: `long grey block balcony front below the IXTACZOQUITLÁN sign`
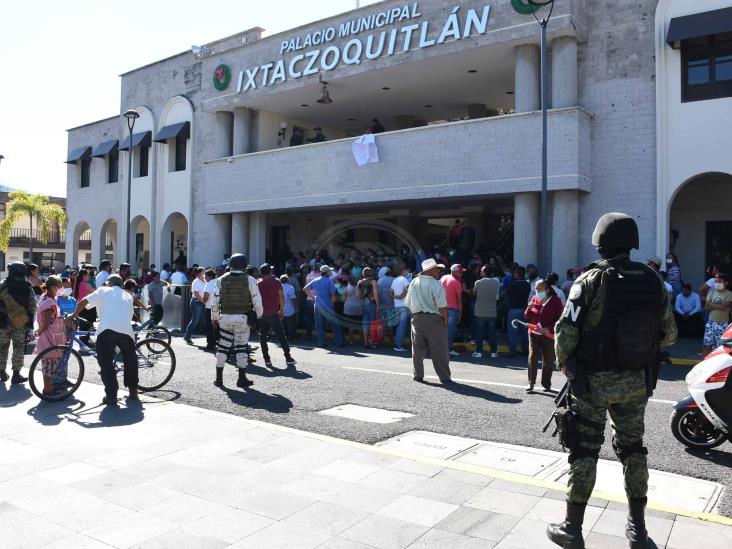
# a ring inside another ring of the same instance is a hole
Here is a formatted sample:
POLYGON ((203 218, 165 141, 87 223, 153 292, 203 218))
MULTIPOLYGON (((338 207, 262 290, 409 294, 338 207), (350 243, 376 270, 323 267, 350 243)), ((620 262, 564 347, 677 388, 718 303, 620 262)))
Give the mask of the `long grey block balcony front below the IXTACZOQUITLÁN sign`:
MULTIPOLYGON (((581 156, 589 118, 579 109, 552 111, 551 189, 589 190, 589 158, 581 156)), ((540 121, 528 113, 389 132, 376 138, 380 162, 360 168, 351 139, 206 162, 206 208, 231 213, 538 190, 540 121)))

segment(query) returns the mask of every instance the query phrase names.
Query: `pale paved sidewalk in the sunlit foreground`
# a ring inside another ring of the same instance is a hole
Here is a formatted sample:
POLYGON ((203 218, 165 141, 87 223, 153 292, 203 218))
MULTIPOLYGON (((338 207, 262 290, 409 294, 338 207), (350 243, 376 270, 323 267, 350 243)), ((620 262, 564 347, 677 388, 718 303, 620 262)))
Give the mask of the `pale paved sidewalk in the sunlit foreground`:
MULTIPOLYGON (((553 548, 564 494, 464 464, 143 397, 39 403, 0 385, 3 548, 553 548)), ((587 546, 627 547, 593 499, 587 546)), ((720 519, 722 522, 729 522, 720 519)), ((659 548, 729 549, 732 527, 649 511, 659 548)))

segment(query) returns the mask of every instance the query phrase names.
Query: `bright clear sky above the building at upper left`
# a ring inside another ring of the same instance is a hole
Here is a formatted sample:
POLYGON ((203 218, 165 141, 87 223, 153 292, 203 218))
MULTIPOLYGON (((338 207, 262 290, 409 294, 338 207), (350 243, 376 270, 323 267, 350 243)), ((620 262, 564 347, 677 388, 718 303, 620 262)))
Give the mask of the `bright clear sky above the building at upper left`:
MULTIPOLYGON (((377 0, 361 0, 366 6, 377 0)), ((119 114, 119 75, 241 30, 265 36, 356 0, 33 0, 0 16, 0 185, 66 195, 66 129, 119 114)))

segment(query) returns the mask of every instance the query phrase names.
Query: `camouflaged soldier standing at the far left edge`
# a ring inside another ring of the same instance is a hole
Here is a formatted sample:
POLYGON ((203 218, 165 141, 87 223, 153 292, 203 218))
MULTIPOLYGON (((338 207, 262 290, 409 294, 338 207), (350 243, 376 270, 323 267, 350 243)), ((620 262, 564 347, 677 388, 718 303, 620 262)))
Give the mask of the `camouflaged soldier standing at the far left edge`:
POLYGON ((5 370, 11 342, 13 377, 10 382, 28 381, 20 371, 23 368, 28 332, 33 328, 36 297, 30 282, 25 278, 26 273, 25 263, 11 263, 8 266, 8 278, 0 284, 0 382, 7 381, 9 377, 5 370))

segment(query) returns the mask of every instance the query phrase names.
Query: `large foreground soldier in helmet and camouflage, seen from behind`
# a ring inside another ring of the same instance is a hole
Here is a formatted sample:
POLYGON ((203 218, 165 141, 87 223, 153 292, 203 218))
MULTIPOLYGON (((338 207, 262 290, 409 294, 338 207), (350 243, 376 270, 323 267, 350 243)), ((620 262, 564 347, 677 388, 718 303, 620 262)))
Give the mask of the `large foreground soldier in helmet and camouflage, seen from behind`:
POLYGON ((630 260, 638 240, 631 217, 610 213, 600 218, 592 244, 603 260, 590 265, 574 283, 556 325, 557 361, 570 380, 567 413, 575 431, 569 447, 566 519, 549 525, 547 535, 565 548, 585 546, 582 522, 595 486, 608 412, 613 449, 625 476, 626 537, 631 549, 647 547, 644 416, 658 375, 659 349, 675 343, 676 323, 661 278, 630 260))

